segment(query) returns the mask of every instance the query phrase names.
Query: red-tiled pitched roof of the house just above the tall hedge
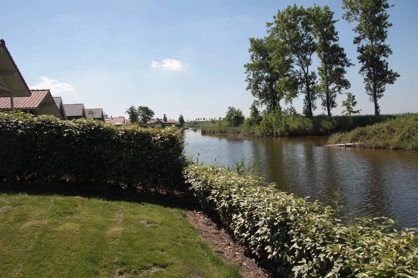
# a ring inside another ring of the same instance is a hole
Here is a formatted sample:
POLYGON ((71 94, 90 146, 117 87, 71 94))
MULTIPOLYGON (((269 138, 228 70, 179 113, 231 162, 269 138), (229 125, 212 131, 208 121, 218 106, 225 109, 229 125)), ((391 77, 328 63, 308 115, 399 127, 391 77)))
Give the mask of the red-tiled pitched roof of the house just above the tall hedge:
MULTIPOLYGON (((31 92, 31 96, 17 96, 13 98, 15 109, 37 109, 45 100, 46 96, 51 94, 49 90, 31 90, 31 92)), ((11 109, 10 98, 0 98, 0 109, 11 109)))

